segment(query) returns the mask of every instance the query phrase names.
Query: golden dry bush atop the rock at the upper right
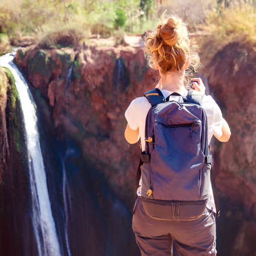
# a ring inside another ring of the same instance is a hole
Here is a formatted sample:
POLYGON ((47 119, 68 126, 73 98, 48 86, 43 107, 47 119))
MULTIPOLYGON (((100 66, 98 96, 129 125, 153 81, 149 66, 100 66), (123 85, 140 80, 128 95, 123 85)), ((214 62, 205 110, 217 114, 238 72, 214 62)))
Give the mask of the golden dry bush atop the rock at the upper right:
POLYGON ((199 41, 202 49, 207 53, 203 54, 206 57, 204 60, 206 65, 208 60, 229 42, 247 41, 255 44, 255 9, 251 5, 244 4, 225 8, 221 12, 212 11, 203 28, 209 34, 199 41))

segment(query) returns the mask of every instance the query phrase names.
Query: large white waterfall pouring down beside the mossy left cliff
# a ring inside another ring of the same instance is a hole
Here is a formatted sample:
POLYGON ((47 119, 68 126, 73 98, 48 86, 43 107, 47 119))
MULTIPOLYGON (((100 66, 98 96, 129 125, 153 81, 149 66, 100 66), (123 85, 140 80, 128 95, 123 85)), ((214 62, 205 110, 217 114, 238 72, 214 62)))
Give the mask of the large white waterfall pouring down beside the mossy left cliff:
POLYGON ((24 115, 28 147, 29 179, 32 194, 32 223, 39 256, 61 255, 47 188, 40 148, 35 102, 28 84, 13 62, 15 53, 0 57, 0 66, 11 70, 24 115))

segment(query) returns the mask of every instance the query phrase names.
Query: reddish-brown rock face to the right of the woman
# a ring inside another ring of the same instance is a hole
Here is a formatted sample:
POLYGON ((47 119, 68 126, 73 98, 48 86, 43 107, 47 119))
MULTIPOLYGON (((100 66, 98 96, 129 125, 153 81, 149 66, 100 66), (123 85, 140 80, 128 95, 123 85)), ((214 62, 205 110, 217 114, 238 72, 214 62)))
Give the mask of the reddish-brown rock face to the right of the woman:
POLYGON ((219 220, 223 255, 253 255, 256 251, 256 51, 255 44, 232 42, 210 61, 211 93, 230 125, 228 143, 215 148, 216 183, 223 216, 219 220))

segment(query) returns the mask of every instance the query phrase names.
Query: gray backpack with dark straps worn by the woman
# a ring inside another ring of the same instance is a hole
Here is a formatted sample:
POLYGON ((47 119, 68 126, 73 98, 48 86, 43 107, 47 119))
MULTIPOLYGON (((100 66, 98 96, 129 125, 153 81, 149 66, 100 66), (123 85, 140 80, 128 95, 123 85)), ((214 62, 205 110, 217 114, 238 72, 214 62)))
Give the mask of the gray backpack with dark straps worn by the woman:
POLYGON ((171 95, 165 99, 156 88, 144 96, 152 105, 140 165, 144 210, 155 219, 197 219, 205 211, 211 181, 203 95, 189 90, 184 102, 169 101, 171 95))

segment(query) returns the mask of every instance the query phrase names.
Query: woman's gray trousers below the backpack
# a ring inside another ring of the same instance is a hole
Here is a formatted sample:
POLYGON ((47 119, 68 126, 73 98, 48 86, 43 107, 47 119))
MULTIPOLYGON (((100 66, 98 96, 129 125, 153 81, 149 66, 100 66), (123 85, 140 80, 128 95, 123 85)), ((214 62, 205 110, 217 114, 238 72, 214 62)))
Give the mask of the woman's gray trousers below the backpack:
POLYGON ((165 221, 148 217, 140 197, 133 211, 133 231, 141 255, 216 255, 216 222, 206 209, 197 220, 165 221))

